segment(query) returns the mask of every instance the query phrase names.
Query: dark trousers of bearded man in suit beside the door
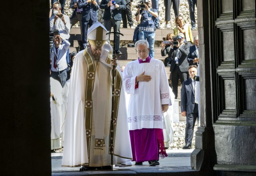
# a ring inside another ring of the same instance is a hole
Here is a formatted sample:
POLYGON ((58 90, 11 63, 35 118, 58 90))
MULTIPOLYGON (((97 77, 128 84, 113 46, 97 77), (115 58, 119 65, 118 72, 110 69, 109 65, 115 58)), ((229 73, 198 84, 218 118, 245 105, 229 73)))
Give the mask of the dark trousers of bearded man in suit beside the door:
POLYGON ((198 104, 195 104, 194 110, 192 113, 187 113, 187 122, 186 122, 186 129, 185 129, 185 143, 186 145, 192 144, 193 133, 194 133, 194 126, 196 123, 196 118, 199 118, 198 115, 198 104))

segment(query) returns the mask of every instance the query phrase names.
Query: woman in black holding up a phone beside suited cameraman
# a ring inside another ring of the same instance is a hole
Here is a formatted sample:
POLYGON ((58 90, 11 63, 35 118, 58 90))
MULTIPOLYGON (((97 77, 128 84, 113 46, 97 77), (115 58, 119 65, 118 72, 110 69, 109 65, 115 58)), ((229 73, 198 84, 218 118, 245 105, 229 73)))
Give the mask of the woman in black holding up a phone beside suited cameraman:
POLYGON ((161 47, 162 47, 161 55, 166 56, 166 54, 168 54, 168 57, 166 57, 164 59, 164 66, 170 66, 171 58, 169 55, 169 51, 170 51, 170 44, 173 42, 173 40, 172 40, 173 37, 175 37, 175 35, 173 33, 168 33, 166 35, 165 41, 163 41, 161 43, 161 47), (166 43, 166 42, 168 42, 168 43, 166 43))

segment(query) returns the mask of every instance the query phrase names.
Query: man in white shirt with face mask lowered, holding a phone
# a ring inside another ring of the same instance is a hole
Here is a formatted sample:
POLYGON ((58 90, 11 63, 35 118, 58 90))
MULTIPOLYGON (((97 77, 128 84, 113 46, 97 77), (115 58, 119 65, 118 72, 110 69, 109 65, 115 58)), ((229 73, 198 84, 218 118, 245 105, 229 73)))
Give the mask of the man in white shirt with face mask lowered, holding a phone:
MULTIPOLYGON (((67 15, 61 13, 61 5, 59 2, 52 4, 52 10, 54 15, 50 18, 50 31, 58 30, 60 37, 68 41, 70 35, 70 19, 67 15)), ((67 50, 69 53, 69 48, 67 50)), ((66 62, 70 63, 67 55, 66 62)))

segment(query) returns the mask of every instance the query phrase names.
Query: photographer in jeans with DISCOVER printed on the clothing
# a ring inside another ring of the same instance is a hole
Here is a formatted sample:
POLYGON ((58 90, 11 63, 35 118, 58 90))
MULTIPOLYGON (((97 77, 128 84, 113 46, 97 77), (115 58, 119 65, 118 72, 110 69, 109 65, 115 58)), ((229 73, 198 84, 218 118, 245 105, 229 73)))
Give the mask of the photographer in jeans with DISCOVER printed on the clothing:
POLYGON ((139 27, 139 40, 147 40, 150 51, 149 56, 154 58, 154 43, 155 43, 155 25, 154 22, 158 17, 156 9, 151 8, 151 2, 148 0, 141 0, 137 6, 137 12, 135 14, 136 21, 140 20, 139 27))

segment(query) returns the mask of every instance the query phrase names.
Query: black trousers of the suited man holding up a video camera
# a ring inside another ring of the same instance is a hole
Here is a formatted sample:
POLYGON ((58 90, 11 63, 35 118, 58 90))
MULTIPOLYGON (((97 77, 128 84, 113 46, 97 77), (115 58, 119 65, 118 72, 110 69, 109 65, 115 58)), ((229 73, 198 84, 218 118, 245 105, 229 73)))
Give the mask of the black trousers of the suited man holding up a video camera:
POLYGON ((181 72, 178 65, 175 65, 172 70, 172 74, 170 75, 170 80, 172 80, 172 92, 174 93, 175 99, 178 97, 178 83, 179 78, 181 84, 187 80, 188 72, 181 72))

